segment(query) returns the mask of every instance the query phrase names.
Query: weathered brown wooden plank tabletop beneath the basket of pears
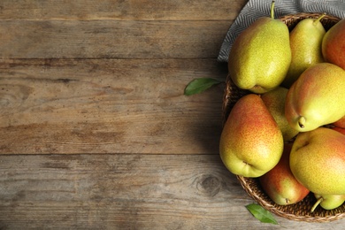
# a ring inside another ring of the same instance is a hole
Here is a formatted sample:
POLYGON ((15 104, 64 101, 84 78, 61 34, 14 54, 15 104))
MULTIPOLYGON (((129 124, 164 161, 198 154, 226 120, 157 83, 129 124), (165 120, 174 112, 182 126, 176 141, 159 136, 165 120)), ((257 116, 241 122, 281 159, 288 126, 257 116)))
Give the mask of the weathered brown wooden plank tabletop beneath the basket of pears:
POLYGON ((277 217, 219 159, 245 0, 0 2, 0 229, 340 229, 277 217))

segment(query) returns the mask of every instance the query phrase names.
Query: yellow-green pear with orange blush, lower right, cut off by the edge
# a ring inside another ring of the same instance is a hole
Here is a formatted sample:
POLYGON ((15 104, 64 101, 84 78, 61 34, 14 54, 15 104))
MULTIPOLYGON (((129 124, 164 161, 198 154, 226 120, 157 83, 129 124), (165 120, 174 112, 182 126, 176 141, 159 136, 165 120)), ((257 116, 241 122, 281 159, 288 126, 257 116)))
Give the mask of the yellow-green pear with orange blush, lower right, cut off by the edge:
POLYGON ((314 194, 345 194, 345 135, 326 127, 297 134, 290 169, 314 194))

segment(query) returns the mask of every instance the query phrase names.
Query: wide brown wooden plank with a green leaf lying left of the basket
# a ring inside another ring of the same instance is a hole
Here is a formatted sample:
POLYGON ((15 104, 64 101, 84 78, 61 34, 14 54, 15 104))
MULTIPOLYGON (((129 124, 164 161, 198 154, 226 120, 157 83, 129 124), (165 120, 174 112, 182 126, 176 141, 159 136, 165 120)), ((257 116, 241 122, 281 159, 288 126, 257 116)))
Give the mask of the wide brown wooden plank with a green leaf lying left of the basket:
POLYGON ((218 153, 225 80, 214 59, 27 59, 0 64, 0 154, 218 153))

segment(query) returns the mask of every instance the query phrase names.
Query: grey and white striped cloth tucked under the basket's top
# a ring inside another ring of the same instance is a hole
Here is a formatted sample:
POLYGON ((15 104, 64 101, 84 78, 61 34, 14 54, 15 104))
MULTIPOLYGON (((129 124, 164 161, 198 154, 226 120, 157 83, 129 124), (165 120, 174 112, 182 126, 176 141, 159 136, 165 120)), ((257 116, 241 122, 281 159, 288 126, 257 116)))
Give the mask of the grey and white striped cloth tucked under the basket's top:
MULTIPOLYGON (((272 0, 249 0, 243 7, 233 25, 229 28, 226 38, 219 51, 218 61, 227 62, 229 51, 234 39, 256 19, 270 16, 272 0)), ((344 19, 345 0, 276 0, 274 6, 275 18, 297 12, 326 12, 344 19)))

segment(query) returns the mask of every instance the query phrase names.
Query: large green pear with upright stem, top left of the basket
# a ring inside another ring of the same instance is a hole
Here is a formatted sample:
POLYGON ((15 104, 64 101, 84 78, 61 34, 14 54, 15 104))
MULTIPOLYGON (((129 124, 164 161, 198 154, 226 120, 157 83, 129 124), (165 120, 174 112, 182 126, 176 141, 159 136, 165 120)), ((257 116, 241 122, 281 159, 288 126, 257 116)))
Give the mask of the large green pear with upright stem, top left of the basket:
POLYGON ((261 17, 235 39, 229 52, 228 72, 238 88, 262 94, 277 88, 288 73, 291 49, 288 26, 274 19, 261 17))

